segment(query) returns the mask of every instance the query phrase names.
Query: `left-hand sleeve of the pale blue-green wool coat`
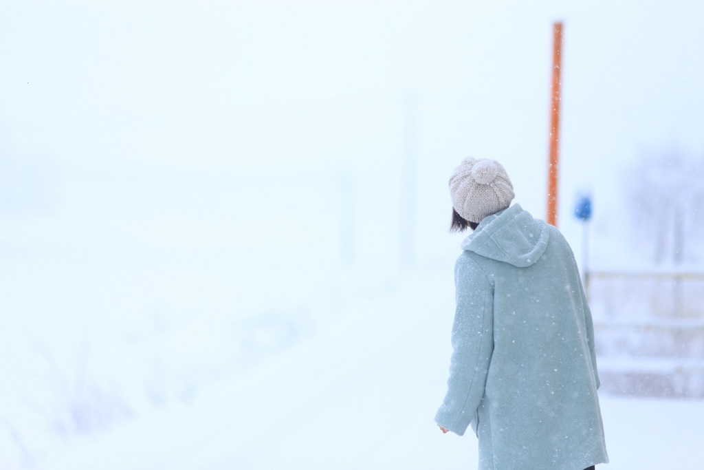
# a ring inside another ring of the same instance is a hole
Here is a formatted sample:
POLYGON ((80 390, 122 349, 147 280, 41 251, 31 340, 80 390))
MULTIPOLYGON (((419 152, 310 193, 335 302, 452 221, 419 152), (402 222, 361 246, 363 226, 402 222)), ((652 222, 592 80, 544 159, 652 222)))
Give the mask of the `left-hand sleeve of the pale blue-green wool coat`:
POLYGON ((455 265, 456 308, 448 390, 435 422, 458 435, 476 419, 494 352, 494 290, 469 256, 455 265))

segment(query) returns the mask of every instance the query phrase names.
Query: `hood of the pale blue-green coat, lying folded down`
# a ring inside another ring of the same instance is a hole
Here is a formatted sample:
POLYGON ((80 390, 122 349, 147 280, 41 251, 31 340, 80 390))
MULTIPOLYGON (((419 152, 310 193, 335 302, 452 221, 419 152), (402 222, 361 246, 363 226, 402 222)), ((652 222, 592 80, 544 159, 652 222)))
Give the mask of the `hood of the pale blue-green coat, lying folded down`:
POLYGON ((485 217, 462 242, 462 249, 525 268, 540 259, 549 237, 547 223, 534 219, 519 204, 513 204, 485 217))

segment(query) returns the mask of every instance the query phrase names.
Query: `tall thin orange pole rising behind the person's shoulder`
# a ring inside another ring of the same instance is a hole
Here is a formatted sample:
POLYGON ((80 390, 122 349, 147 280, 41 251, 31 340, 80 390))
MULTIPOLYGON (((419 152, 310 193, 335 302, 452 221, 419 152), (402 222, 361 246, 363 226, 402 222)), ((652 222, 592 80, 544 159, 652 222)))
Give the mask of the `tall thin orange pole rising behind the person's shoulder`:
POLYGON ((548 220, 558 225, 558 170, 560 168, 560 66, 562 59, 562 23, 553 25, 553 89, 550 118, 550 161, 548 163, 548 220))

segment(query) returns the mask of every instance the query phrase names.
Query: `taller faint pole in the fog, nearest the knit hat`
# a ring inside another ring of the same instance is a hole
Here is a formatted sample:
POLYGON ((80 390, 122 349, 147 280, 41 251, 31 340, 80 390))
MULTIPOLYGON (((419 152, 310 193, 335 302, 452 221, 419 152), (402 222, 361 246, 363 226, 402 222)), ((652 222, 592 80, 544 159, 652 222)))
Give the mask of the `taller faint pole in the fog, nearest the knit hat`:
POLYGON ((401 155, 401 224, 399 264, 412 268, 415 264, 415 178, 417 166, 417 98, 409 94, 403 106, 403 142, 401 155))

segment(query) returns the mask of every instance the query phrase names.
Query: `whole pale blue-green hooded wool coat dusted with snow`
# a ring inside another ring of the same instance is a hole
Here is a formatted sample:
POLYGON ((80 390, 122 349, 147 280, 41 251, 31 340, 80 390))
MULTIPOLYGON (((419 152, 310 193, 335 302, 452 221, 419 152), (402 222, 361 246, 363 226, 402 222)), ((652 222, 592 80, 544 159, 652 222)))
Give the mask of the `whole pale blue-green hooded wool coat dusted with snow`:
POLYGON ((435 421, 479 438, 479 470, 608 462, 591 313, 560 232, 520 205, 484 218, 455 265, 448 392, 435 421))

